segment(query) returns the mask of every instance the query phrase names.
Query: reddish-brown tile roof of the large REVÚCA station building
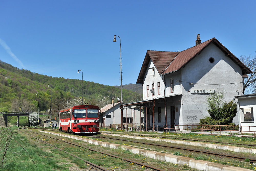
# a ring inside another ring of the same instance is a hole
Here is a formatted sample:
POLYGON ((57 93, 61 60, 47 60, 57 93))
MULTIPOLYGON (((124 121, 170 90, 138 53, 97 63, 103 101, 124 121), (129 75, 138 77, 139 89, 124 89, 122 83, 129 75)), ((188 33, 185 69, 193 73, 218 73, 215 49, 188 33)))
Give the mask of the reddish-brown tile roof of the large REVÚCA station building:
POLYGON ((141 71, 139 73, 137 84, 143 83, 146 70, 150 59, 152 59, 158 73, 167 74, 170 72, 179 71, 195 56, 201 53, 209 44, 214 43, 223 53, 226 54, 231 60, 233 60, 243 70, 243 74, 252 73, 237 57, 235 57, 225 46, 223 46, 216 38, 211 38, 201 44, 193 46, 189 49, 180 52, 168 52, 168 51, 153 51, 147 50, 145 59, 143 61, 141 71))

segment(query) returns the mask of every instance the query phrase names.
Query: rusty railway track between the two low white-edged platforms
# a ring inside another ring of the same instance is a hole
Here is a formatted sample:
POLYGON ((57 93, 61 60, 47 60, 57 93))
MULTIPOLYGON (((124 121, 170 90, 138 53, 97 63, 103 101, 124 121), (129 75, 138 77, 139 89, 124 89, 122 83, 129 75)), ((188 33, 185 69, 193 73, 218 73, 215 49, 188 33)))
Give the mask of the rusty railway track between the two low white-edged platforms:
POLYGON ((205 153, 205 154, 211 154, 211 155, 219 155, 219 156, 231 157, 231 158, 241 159, 241 160, 250 159, 251 161, 256 162, 256 159, 248 158, 248 157, 234 156, 234 155, 221 154, 221 153, 213 153, 213 152, 208 152, 208 151, 194 150, 194 149, 188 149, 188 148, 180 148, 180 147, 174 147, 174 146, 165 146, 165 145, 160 145, 160 144, 138 142, 138 141, 132 141, 132 140, 119 139, 119 138, 110 138, 110 137, 103 137, 103 136, 99 136, 99 137, 100 138, 114 139, 114 140, 119 140, 119 141, 121 140, 121 141, 126 141, 126 142, 135 142, 135 143, 146 144, 146 145, 151 145, 151 146, 167 147, 167 148, 173 148, 173 149, 194 151, 194 152, 198 152, 198 153, 205 153))

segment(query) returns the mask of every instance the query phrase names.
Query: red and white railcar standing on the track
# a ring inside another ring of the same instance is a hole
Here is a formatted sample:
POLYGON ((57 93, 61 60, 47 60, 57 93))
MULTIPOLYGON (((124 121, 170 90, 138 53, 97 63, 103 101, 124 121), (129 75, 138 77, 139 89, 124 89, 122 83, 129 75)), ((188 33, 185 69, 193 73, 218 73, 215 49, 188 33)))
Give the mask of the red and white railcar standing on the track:
POLYGON ((99 107, 79 105, 59 111, 59 129, 76 134, 99 131, 99 107))

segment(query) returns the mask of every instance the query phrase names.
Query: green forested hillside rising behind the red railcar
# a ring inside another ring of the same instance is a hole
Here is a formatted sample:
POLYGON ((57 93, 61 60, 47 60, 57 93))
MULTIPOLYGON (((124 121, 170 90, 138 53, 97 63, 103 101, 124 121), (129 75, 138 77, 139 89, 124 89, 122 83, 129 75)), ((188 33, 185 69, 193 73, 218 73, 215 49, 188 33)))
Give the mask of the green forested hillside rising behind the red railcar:
MULTIPOLYGON (((52 114, 57 115, 65 103, 82 96, 81 80, 51 77, 19 69, 0 60, 0 111, 32 110, 48 112, 51 105, 52 114), (48 84, 49 87, 48 87, 48 84), (39 93, 39 94, 37 94, 39 93), (39 97, 40 96, 40 97, 39 97), (25 106, 28 104, 30 108, 25 106)), ((119 86, 120 87, 120 86, 119 86)), ((122 89, 123 103, 141 101, 142 94, 122 89)), ((120 98, 120 88, 89 81, 83 81, 83 102, 99 107, 111 103, 111 98, 120 98)))

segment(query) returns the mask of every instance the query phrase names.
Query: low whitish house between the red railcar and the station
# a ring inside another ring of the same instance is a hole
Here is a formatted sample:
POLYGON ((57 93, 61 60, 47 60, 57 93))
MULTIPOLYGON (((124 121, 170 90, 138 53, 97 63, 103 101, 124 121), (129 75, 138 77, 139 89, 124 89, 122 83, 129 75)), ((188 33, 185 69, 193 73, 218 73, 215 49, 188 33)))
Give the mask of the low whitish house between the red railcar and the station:
POLYGON ((112 124, 121 126, 121 123, 140 124, 141 121, 143 123, 142 110, 140 112, 140 109, 138 108, 127 109, 123 111, 122 115, 120 105, 120 101, 114 103, 114 100, 112 99, 111 104, 107 104, 106 106, 100 109, 100 117, 102 117, 102 121, 100 119, 100 122, 102 122, 103 126, 112 124))

